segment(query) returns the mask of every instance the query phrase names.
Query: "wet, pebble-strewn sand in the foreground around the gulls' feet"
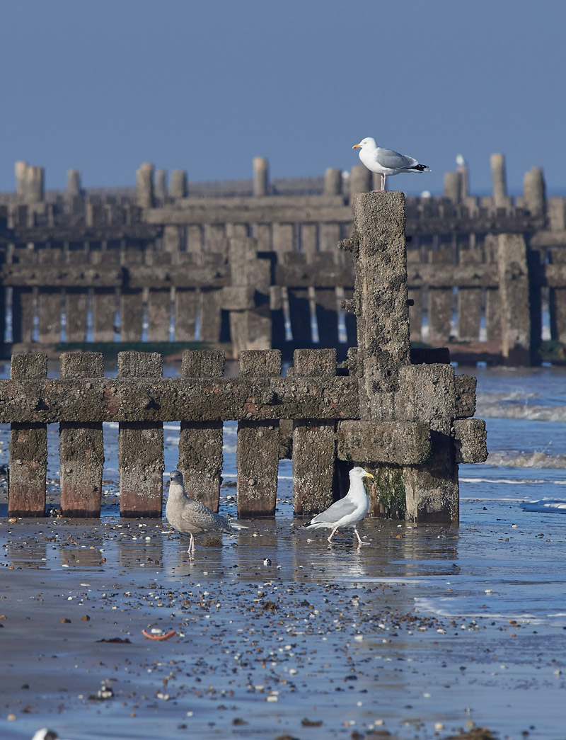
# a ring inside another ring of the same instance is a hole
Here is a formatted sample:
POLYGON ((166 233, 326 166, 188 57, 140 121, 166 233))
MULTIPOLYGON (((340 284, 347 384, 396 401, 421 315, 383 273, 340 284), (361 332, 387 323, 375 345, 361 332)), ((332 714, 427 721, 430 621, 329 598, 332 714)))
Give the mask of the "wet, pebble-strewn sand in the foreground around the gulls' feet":
POLYGON ((286 503, 193 561, 165 520, 2 517, 0 737, 562 738, 564 519, 488 507, 357 548, 286 503))

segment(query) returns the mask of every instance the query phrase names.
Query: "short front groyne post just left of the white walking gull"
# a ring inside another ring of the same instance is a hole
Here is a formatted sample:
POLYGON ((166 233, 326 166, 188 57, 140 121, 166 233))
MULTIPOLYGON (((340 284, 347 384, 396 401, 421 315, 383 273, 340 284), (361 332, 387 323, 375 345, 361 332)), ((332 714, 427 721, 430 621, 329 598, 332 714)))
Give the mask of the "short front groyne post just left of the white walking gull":
MULTIPOLYGON (((291 370, 291 369, 290 369, 291 370)), ((304 377, 333 377, 335 349, 296 349, 292 374, 304 377)), ((328 420, 293 422, 293 513, 312 516, 333 502, 335 423, 328 420)))

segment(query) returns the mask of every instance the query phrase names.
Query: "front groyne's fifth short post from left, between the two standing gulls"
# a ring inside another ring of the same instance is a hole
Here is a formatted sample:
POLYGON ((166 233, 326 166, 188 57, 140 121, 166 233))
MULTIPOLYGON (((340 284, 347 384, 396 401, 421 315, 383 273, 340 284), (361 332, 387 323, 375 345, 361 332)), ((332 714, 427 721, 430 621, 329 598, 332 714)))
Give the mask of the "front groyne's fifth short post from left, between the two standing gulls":
MULTIPOLYGON (((242 352, 239 359, 241 377, 270 377, 281 375, 279 349, 242 352)), ((238 471, 238 516, 273 517, 279 471, 279 420, 238 423, 236 467, 238 471)))

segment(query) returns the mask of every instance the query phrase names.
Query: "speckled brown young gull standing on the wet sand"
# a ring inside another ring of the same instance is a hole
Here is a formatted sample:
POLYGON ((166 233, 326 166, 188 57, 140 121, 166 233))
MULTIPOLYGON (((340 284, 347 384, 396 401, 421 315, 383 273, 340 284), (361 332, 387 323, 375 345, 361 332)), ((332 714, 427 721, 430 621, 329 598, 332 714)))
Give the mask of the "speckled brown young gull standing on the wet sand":
POLYGON ((215 514, 214 511, 200 501, 195 501, 185 494, 183 474, 174 470, 170 474, 169 495, 165 507, 165 515, 171 527, 183 534, 188 534, 188 554, 194 554, 194 535, 204 532, 226 532, 233 534, 233 529, 248 529, 242 524, 228 521, 226 517, 215 514))

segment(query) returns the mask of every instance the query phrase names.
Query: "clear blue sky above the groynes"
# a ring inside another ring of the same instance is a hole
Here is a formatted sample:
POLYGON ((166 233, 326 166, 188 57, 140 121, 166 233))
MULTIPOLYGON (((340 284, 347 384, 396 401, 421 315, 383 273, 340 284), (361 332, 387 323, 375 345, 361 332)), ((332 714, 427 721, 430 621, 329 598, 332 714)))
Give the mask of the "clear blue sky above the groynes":
POLYGON ((359 164, 374 136, 428 164, 389 187, 440 194, 461 152, 520 192, 542 166, 566 194, 564 0, 2 0, 0 190, 14 162, 83 185, 144 161, 189 182, 359 164))

